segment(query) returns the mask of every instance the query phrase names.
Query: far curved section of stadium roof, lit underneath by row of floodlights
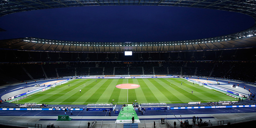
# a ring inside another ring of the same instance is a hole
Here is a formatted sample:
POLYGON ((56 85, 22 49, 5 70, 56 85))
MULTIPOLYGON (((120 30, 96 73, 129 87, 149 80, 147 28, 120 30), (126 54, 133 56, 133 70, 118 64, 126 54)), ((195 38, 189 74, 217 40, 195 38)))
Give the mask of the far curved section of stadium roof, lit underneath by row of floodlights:
POLYGON ((0 49, 52 52, 180 52, 252 48, 256 46, 256 33, 246 37, 208 38, 176 42, 69 42, 40 38, 1 40, 0 49))

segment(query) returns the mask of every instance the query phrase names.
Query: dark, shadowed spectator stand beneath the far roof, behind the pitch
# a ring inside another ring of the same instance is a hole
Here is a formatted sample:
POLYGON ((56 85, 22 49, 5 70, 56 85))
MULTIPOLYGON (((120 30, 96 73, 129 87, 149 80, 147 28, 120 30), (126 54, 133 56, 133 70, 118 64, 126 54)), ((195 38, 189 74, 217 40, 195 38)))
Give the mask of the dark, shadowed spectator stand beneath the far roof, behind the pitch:
MULTIPOLYGON (((86 75, 186 75, 255 82, 255 48, 169 53, 62 53, 3 50, 1 72, 14 81, 86 75), (102 61, 107 60, 107 61, 102 61), (15 74, 14 72, 19 72, 15 74)), ((11 81, 12 81, 11 80, 11 81)), ((8 80, 5 80, 7 82, 8 80)))

